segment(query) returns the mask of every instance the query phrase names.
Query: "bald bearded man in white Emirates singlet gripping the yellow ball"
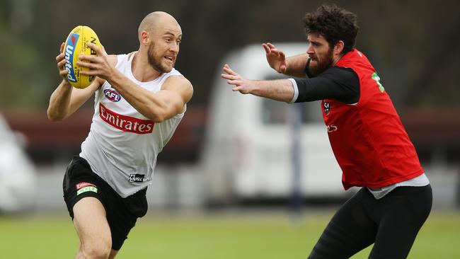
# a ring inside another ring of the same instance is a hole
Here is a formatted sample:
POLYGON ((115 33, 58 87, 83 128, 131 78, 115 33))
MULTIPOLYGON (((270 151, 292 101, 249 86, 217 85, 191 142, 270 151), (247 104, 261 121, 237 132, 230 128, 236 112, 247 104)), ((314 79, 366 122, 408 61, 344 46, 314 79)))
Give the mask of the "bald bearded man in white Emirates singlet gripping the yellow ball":
POLYGON ((64 79, 50 98, 51 121, 66 119, 96 93, 91 130, 63 182, 80 240, 76 258, 115 258, 137 218, 146 214, 156 156, 192 98, 192 84, 174 69, 182 38, 176 19, 150 13, 138 33, 139 50, 130 54, 108 55, 88 43, 97 57, 80 56, 77 64, 91 69, 81 74, 96 79, 84 89, 66 80, 63 45, 56 57, 64 79))

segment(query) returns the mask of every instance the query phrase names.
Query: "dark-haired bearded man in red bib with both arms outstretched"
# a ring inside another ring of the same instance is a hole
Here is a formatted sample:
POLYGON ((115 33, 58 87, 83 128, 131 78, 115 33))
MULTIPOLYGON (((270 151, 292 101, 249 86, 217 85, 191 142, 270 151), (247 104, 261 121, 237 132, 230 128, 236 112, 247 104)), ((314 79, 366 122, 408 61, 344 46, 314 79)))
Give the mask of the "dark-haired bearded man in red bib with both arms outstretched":
POLYGON ((355 49, 357 16, 320 6, 304 18, 309 47, 286 58, 263 47, 277 72, 299 78, 255 81, 224 65, 233 91, 287 103, 321 100, 323 119, 345 190, 361 189, 340 207, 309 258, 406 258, 432 206, 432 189, 415 148, 369 59, 355 49))

